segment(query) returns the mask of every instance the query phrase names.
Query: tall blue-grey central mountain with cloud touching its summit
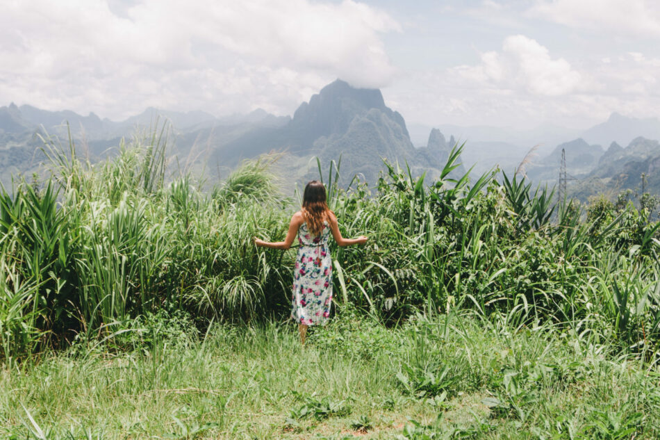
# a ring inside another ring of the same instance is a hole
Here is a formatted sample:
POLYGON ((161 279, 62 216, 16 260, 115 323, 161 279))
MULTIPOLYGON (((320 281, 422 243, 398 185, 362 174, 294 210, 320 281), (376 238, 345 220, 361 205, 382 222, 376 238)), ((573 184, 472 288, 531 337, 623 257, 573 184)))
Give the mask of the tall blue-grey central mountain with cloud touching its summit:
POLYGON ((432 177, 439 174, 443 154, 440 149, 413 147, 404 118, 386 106, 380 90, 354 88, 339 79, 300 104, 287 124, 251 130, 216 145, 210 161, 232 166, 271 151, 309 160, 317 156, 326 165, 341 157, 344 184, 354 174, 374 184, 381 158, 402 166, 406 162, 415 174, 430 170, 432 177))

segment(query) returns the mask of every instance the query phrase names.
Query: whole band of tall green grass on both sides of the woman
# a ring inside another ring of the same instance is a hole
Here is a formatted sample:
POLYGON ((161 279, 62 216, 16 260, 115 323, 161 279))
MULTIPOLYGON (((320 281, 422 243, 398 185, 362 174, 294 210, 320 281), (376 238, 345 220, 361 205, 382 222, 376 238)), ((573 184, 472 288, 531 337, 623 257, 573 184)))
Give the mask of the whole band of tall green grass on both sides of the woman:
MULTIPOLYGON (((283 238, 297 209, 277 195, 272 158, 204 193, 190 174, 166 177, 167 133, 122 141, 94 165, 71 142, 46 139, 53 179, 0 191, 5 361, 160 309, 199 325, 286 316, 294 254, 252 243, 283 238)), ((660 223, 650 212, 601 203, 582 213, 497 170, 452 179, 462 148, 435 181, 386 163, 377 186, 343 189, 331 165, 342 233, 371 238, 332 250, 338 309, 386 323, 469 309, 587 332, 657 361, 660 223)))

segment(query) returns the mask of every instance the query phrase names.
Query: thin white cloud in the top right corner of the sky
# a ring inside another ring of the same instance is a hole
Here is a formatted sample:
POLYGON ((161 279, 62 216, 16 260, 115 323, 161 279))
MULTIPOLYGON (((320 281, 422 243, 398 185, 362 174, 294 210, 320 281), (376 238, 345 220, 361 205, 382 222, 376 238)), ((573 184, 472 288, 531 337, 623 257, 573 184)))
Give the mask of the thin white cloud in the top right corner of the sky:
POLYGON ((655 0, 538 0, 528 13, 575 28, 660 35, 660 4, 655 0))

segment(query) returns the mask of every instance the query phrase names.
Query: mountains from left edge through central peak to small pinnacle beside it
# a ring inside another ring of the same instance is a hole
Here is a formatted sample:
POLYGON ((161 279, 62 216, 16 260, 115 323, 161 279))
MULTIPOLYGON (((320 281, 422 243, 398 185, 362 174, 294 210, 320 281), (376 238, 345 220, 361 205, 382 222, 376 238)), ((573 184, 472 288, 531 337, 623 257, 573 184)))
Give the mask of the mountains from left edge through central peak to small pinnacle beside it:
MULTIPOLYGON (((147 108, 140 115, 113 122, 101 120, 94 113, 81 116, 70 111, 51 112, 11 104, 0 108, 0 147, 3 139, 9 145, 10 136, 28 136, 41 125, 49 132, 66 135, 62 124, 68 122, 74 136, 87 140, 92 160, 97 160, 112 154, 108 153, 108 147, 118 144, 120 136, 130 135, 138 126, 149 127, 158 117, 167 117, 174 125, 174 154, 192 157, 198 168, 206 168, 206 164, 211 165, 210 170, 217 167, 221 174, 229 172, 244 158, 280 151, 299 164, 295 172, 287 172, 290 179, 312 177, 312 174, 317 177, 315 167, 308 165, 314 156, 324 164, 341 158, 343 183, 358 174, 374 184, 383 169, 382 159, 401 166, 407 163, 414 174, 427 172, 432 179, 439 174, 454 144, 452 138, 451 145, 447 145, 436 129, 431 131, 427 147, 416 149, 404 117, 386 106, 380 90, 354 88, 338 79, 300 104, 293 117, 277 117, 257 110, 249 115, 215 118, 204 112, 147 108), (193 152, 195 149, 199 151, 193 152)), ((464 169, 459 168, 454 174, 461 170, 464 169)))

